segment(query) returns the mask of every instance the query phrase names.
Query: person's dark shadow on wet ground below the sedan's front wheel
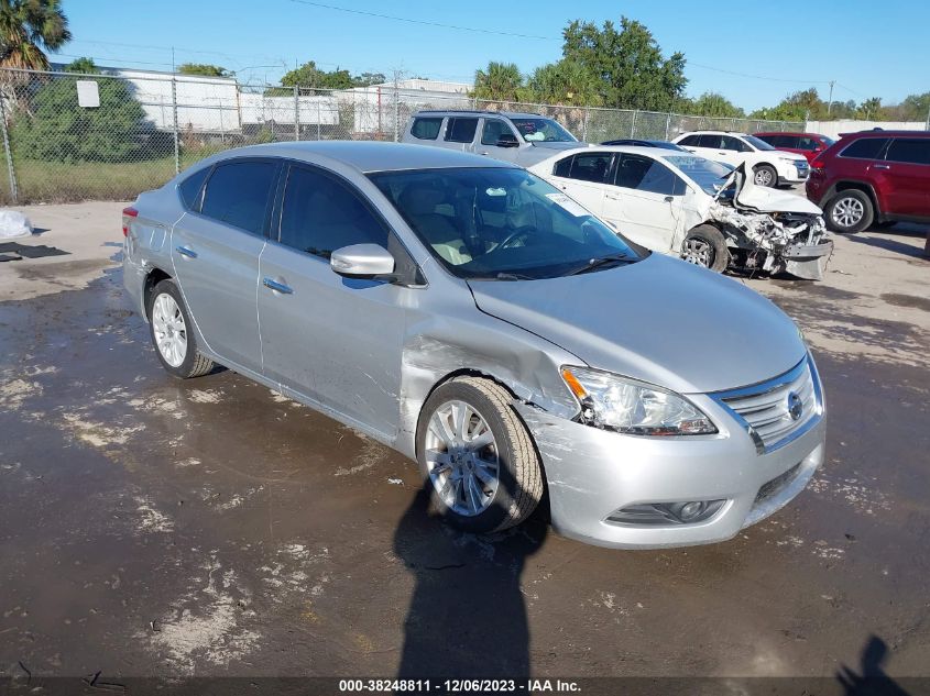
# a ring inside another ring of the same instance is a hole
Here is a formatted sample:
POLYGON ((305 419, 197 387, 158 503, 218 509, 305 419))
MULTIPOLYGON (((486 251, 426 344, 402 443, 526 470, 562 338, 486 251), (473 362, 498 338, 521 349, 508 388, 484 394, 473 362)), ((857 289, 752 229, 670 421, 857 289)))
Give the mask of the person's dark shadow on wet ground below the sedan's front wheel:
POLYGON ((430 488, 427 480, 417 491, 394 537, 394 552, 415 578, 398 677, 527 677, 521 575, 547 535, 545 500, 518 528, 471 534, 437 519, 430 488))

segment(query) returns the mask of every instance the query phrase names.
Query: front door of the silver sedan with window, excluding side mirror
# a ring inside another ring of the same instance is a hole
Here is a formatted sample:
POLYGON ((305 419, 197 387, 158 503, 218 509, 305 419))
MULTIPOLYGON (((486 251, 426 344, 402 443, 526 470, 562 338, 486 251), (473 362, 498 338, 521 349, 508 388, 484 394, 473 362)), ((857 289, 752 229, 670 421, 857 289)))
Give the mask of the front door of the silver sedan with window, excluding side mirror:
POLYGON ((329 267, 330 254, 342 246, 390 248, 387 225, 350 184, 297 164, 289 166, 277 217, 277 234, 261 257, 265 375, 393 438, 404 306, 413 290, 343 278, 329 267))

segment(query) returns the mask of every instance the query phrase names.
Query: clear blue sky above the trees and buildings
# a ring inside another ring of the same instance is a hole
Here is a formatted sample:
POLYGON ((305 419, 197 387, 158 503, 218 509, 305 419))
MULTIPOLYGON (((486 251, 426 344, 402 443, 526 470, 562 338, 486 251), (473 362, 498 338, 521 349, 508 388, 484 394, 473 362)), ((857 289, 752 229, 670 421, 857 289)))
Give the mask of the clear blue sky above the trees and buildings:
POLYGON ((61 62, 90 56, 98 65, 171 70, 174 47, 176 64, 221 65, 250 81, 276 82, 307 60, 328 70, 389 76, 401 70, 467 82, 489 60, 516 63, 529 73, 561 56, 561 31, 571 20, 619 23, 625 15, 644 23, 666 56, 685 54, 689 96, 716 91, 747 111, 809 87, 827 99, 831 80, 839 101, 879 97, 891 104, 930 91, 930 3, 917 0, 64 0, 63 5, 74 40, 59 52, 61 62))

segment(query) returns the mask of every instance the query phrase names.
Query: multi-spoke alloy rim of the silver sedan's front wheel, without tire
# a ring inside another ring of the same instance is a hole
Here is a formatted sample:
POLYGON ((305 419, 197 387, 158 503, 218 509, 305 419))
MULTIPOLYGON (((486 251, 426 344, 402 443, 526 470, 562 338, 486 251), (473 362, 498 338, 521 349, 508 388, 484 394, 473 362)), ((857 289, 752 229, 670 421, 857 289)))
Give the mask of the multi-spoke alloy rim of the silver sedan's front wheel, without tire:
POLYGON ((464 517, 488 509, 500 480, 497 441, 488 421, 464 401, 446 401, 426 431, 426 467, 442 502, 464 517))

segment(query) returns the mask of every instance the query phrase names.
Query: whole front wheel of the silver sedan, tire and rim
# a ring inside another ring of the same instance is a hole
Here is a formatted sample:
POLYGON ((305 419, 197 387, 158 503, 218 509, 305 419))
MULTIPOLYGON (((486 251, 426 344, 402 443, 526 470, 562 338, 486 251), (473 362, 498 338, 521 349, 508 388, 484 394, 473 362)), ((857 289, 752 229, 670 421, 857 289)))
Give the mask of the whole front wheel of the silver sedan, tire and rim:
POLYGON ((434 510, 461 530, 515 527, 543 498, 539 456, 511 399, 490 379, 457 377, 440 385, 423 407, 416 442, 425 487, 434 510), (456 426, 460 413, 463 428, 456 426), (478 440, 484 444, 468 446, 478 440), (492 462, 495 466, 488 466, 492 462))

